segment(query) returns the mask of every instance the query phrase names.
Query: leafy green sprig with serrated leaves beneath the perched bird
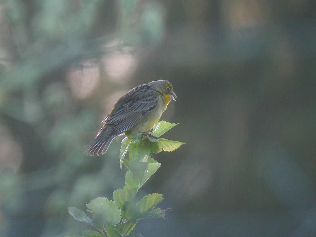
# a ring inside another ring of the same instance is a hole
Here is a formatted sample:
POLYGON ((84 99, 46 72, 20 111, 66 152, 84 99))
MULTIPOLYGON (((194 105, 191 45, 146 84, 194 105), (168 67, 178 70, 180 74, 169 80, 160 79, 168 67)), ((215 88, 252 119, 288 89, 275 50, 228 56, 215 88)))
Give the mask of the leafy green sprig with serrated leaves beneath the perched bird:
MULTIPOLYGON (((87 204, 88 217, 82 210, 76 207, 69 207, 68 212, 76 220, 87 223, 97 231, 85 230, 82 237, 121 237, 138 236, 131 231, 135 228, 137 221, 143 218, 163 218, 167 210, 155 208, 163 200, 163 195, 152 193, 144 196, 138 202, 133 201, 139 188, 157 171, 161 166, 155 161, 150 153, 161 151, 173 151, 178 149, 182 142, 170 141, 159 138, 162 134, 177 124, 160 121, 153 129, 150 136, 139 133, 135 137, 125 137, 122 140, 120 152, 120 167, 123 164, 128 169, 125 174, 125 185, 113 192, 113 200, 106 197, 98 197, 87 204), (157 137, 158 139, 156 139, 157 137), (125 155, 129 153, 129 159, 125 155)), ((73 235, 72 237, 80 237, 73 235)))

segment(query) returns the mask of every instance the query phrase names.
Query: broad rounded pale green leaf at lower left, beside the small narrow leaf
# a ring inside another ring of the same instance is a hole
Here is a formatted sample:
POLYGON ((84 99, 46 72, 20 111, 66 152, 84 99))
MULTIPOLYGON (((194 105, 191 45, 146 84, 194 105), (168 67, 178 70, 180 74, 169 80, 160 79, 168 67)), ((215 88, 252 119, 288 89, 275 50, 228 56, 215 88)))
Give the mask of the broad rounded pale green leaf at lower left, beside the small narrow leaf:
POLYGON ((112 200, 106 197, 91 200, 87 207, 93 214, 93 224, 100 230, 109 225, 116 225, 121 220, 121 211, 112 200))

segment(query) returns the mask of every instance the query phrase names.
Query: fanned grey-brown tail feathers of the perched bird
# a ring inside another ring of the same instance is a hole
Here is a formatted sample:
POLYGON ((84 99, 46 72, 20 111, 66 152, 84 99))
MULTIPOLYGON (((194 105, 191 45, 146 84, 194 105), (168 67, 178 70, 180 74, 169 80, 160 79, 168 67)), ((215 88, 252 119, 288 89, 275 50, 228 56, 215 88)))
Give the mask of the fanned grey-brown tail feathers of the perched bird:
POLYGON ((103 155, 109 148, 113 137, 109 137, 111 127, 104 125, 97 136, 86 146, 85 153, 87 155, 103 155))

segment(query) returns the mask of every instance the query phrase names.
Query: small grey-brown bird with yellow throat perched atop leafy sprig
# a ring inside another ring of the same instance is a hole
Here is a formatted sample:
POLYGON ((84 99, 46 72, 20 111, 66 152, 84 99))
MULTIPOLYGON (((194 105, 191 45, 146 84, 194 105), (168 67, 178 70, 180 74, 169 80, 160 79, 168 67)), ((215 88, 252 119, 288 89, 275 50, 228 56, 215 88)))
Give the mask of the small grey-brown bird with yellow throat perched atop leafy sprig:
POLYGON ((136 135, 152 129, 159 121, 171 100, 176 101, 176 94, 167 80, 158 80, 131 89, 113 106, 103 119, 104 125, 97 136, 86 146, 87 155, 106 153, 114 137, 136 135))

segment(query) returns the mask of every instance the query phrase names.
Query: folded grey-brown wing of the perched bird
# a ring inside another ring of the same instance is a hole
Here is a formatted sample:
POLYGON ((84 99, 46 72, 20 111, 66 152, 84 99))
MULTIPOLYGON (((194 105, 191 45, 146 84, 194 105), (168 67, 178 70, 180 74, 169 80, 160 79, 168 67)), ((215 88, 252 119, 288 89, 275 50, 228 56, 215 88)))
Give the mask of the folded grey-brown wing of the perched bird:
POLYGON ((112 125, 111 134, 116 137, 142 121, 158 101, 159 94, 154 91, 126 94, 102 122, 112 125))

